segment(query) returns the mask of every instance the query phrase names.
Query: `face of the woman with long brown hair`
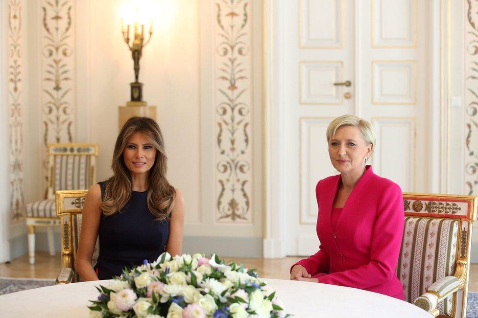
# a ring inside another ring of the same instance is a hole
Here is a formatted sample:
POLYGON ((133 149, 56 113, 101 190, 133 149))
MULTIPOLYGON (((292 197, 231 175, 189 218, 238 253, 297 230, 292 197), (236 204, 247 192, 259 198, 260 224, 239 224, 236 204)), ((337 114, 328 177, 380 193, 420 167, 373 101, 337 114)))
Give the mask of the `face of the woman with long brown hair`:
POLYGON ((123 151, 123 160, 131 173, 147 173, 156 159, 156 148, 153 147, 142 132, 134 132, 128 139, 123 151))

